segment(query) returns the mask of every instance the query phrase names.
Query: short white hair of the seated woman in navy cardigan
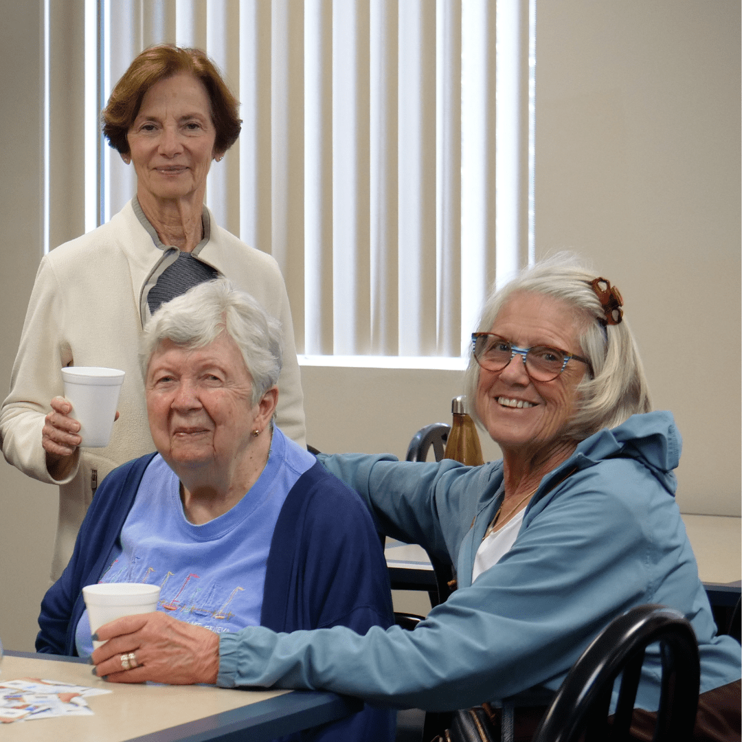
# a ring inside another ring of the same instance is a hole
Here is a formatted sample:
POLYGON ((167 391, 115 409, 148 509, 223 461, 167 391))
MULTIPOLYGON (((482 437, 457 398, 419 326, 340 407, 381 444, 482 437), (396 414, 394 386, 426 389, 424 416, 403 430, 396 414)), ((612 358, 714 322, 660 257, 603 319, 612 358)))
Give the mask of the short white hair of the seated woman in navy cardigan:
POLYGON ((237 344, 252 376, 252 405, 276 384, 283 363, 280 322, 248 293, 226 278, 199 283, 168 301, 151 316, 139 343, 142 376, 152 354, 169 340, 188 349, 203 348, 226 332, 237 344))

